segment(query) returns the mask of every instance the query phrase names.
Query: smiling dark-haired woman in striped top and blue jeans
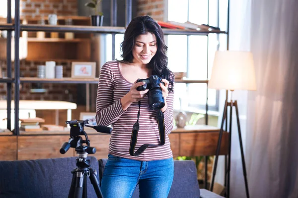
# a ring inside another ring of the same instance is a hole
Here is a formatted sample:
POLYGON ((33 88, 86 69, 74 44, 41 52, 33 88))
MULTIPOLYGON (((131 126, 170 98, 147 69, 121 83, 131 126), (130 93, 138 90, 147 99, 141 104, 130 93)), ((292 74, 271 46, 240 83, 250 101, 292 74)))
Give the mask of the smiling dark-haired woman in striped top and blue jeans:
POLYGON ((173 126, 173 73, 167 68, 167 47, 160 26, 149 16, 138 16, 128 25, 122 43, 121 61, 106 62, 100 72, 96 120, 113 125, 108 161, 101 190, 104 198, 130 198, 139 184, 141 198, 166 198, 173 181, 174 164, 168 134, 173 126), (140 108, 140 130, 136 148, 160 143, 157 110, 148 105, 148 89, 137 91, 151 75, 162 78, 159 84, 165 106, 165 144, 130 155, 132 128, 140 108))

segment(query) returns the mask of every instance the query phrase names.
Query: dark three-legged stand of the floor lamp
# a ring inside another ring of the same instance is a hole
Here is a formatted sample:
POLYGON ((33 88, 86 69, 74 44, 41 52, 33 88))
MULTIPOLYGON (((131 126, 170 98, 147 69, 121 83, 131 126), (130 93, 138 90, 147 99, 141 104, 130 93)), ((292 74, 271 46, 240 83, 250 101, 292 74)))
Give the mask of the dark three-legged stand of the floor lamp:
POLYGON ((224 113, 223 113, 223 119, 222 119, 222 124, 221 124, 221 130, 220 130, 218 145, 217 145, 217 149, 216 149, 216 158, 215 158, 215 164, 214 164, 214 170, 213 170, 213 176, 212 176, 210 191, 211 192, 213 191, 214 179, 215 179, 216 169, 217 169, 217 164, 218 164, 218 157, 219 157, 219 154, 220 154, 222 137, 223 137, 223 132, 224 132, 224 120, 226 119, 227 106, 230 106, 230 114, 229 114, 229 117, 230 117, 229 119, 230 120, 229 120, 229 148, 228 148, 228 161, 227 161, 228 163, 227 163, 227 170, 225 169, 225 177, 224 177, 224 178, 226 178, 226 175, 227 175, 226 197, 229 198, 230 164, 231 164, 231 157, 230 156, 231 156, 232 109, 233 109, 233 106, 235 106, 236 117, 237 117, 237 125, 238 125, 238 134, 239 134, 239 143, 240 143, 240 150, 241 150, 242 169, 243 169, 243 176, 244 176, 244 182, 245 182, 246 198, 249 198, 237 100, 234 100, 234 101, 230 100, 230 102, 227 102, 227 99, 225 100, 224 113))

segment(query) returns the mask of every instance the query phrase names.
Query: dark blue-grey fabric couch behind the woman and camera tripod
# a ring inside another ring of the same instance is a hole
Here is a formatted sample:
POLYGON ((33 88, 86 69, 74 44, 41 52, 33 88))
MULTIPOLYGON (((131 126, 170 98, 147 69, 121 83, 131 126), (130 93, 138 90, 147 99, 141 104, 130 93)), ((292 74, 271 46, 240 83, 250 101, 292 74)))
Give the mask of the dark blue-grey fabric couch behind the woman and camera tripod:
MULTIPOLYGON (((67 198, 77 157, 0 161, 0 198, 67 198)), ((101 179, 107 159, 88 157, 101 179)), ((174 181, 169 198, 222 198, 199 188, 193 161, 174 162, 174 181)), ((88 198, 96 198, 87 179, 88 198)), ((139 189, 133 198, 139 197, 139 189)))

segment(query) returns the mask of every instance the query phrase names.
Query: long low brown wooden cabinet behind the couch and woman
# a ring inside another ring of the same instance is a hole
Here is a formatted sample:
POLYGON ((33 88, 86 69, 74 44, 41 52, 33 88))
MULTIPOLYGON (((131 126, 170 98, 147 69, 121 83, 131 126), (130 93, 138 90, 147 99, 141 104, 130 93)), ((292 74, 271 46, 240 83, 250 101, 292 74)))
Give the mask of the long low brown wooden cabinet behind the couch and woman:
MULTIPOLYGON (((206 125, 175 129, 169 135, 173 156, 215 155, 219 129, 206 125)), ((11 133, 11 132, 10 132, 11 133)), ((74 148, 65 154, 59 152, 62 144, 68 142, 69 132, 24 132, 20 136, 0 136, 0 160, 25 160, 77 156, 74 148)), ((96 158, 106 158, 110 135, 87 132, 90 146, 96 148, 96 158)), ((223 133, 221 152, 227 154, 228 135, 223 133)), ((83 139, 85 139, 83 137, 83 139)))

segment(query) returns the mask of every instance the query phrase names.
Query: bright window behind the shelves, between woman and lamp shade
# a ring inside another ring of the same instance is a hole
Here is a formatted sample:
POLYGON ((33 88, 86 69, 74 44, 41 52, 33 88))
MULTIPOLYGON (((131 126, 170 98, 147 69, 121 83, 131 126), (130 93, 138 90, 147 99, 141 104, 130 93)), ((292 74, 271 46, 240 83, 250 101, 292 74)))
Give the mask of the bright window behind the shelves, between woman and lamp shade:
MULTIPOLYGON (((168 0, 169 21, 210 24, 226 30, 227 0, 168 0)), ((168 65, 173 72, 186 72, 193 80, 210 78, 215 51, 226 49, 226 34, 209 36, 166 36, 168 65)), ((206 109, 207 84, 182 84, 175 87, 175 109, 202 112, 206 109)), ((208 90, 208 109, 218 111, 219 92, 208 90)))

